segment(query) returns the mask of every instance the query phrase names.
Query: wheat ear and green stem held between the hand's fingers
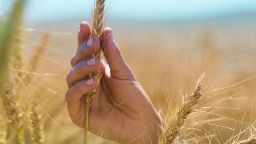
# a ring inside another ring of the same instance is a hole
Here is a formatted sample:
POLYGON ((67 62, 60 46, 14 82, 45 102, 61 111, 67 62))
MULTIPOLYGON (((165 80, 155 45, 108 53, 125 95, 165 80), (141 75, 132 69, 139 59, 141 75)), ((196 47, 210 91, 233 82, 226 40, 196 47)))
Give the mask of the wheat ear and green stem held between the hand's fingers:
MULTIPOLYGON (((105 7, 105 0, 96 0, 96 6, 94 9, 93 19, 92 19, 92 32, 91 32, 91 38, 96 37, 101 41, 101 34, 103 32, 104 28, 104 7, 105 7)), ((96 52, 94 55, 92 55, 91 58, 100 58, 101 56, 101 48, 96 52)), ((87 79, 96 77, 99 78, 99 70, 88 74, 86 76, 87 79)), ((91 92, 88 93, 87 99, 86 99, 86 112, 85 112, 85 138, 84 143, 86 144, 88 141, 88 118, 89 118, 89 109, 91 107, 91 100, 96 95, 96 88, 92 89, 91 92)))

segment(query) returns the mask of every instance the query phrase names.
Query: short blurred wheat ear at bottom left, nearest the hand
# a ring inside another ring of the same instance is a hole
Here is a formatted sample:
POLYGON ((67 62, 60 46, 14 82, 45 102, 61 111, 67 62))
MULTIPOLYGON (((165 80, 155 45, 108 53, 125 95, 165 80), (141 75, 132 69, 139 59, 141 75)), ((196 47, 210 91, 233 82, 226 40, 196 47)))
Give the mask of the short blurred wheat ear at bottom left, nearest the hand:
POLYGON ((30 107, 30 132, 34 144, 45 143, 42 115, 37 110, 36 102, 33 102, 30 107))

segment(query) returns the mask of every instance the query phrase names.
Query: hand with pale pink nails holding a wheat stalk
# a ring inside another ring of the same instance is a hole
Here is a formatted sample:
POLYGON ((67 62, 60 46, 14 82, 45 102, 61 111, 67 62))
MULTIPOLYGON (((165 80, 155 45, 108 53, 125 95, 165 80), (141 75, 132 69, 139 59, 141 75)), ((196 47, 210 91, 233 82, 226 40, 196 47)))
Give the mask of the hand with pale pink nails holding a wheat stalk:
POLYGON ((84 128, 87 93, 97 87, 89 110, 90 132, 121 144, 157 144, 164 120, 125 62, 112 29, 105 28, 102 34, 106 62, 90 59, 100 49, 100 41, 89 40, 90 36, 89 24, 82 22, 77 50, 71 58, 72 68, 67 74, 65 98, 71 120, 84 128), (98 69, 99 83, 95 78, 85 79, 98 69))

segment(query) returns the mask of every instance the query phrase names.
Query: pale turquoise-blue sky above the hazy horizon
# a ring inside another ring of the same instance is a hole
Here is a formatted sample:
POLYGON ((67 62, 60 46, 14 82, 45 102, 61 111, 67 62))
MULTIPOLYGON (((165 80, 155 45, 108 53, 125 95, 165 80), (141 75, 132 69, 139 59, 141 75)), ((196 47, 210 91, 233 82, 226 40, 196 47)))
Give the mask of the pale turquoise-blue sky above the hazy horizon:
MULTIPOLYGON (((11 0, 0 0, 7 12, 11 0)), ((90 18, 93 0, 30 0, 25 21, 50 22, 90 18)), ((256 0, 107 0, 110 19, 176 20, 256 12, 256 0)))

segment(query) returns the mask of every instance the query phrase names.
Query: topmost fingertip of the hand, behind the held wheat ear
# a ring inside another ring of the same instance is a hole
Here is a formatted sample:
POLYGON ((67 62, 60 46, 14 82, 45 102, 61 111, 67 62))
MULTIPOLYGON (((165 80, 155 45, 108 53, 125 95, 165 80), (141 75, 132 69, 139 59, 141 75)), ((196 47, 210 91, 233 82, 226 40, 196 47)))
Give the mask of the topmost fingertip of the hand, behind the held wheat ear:
POLYGON ((80 46, 84 41, 89 40, 91 37, 90 25, 87 22, 82 22, 78 31, 78 46, 80 46))

